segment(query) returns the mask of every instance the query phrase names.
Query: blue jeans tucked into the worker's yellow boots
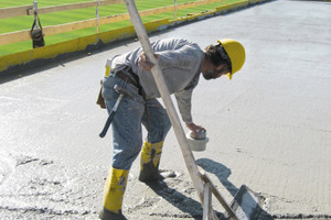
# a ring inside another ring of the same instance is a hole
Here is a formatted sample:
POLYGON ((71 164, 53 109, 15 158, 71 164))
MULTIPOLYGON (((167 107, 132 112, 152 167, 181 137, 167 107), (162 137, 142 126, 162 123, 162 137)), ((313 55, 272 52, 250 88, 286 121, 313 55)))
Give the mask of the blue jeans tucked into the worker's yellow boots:
POLYGON ((171 123, 164 108, 157 99, 143 100, 138 88, 131 84, 125 85, 120 78, 113 76, 105 78, 103 86, 103 97, 108 113, 119 96, 114 89, 115 85, 126 88, 135 99, 125 96, 111 122, 111 165, 117 169, 130 169, 142 146, 141 124, 148 131, 146 141, 158 143, 164 141, 171 123))

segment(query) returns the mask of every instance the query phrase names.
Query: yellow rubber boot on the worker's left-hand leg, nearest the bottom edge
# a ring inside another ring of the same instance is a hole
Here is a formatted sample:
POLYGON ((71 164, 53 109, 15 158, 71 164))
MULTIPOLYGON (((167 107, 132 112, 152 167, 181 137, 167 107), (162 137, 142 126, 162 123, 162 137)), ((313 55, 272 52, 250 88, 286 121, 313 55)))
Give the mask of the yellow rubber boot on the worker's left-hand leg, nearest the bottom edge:
POLYGON ((111 168, 104 188, 103 220, 125 220, 121 213, 121 204, 128 183, 129 170, 111 168))

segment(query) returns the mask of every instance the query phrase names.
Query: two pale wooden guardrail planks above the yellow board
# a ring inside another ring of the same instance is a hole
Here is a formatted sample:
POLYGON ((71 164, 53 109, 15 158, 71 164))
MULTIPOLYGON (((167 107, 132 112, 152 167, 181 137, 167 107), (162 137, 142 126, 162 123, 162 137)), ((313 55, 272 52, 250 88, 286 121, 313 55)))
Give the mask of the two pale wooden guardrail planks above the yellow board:
MULTIPOLYGON (((150 10, 143 10, 143 11, 140 11, 139 14, 140 14, 140 16, 148 16, 148 15, 171 12, 171 11, 173 11, 177 14, 177 10, 194 8, 194 7, 221 2, 221 1, 224 1, 224 0, 201 0, 201 1, 190 2, 190 3, 182 3, 182 4, 177 4, 177 1, 174 1, 173 6, 156 8, 156 9, 150 9, 150 10)), ((99 2, 95 1, 95 2, 82 2, 82 3, 73 3, 73 4, 65 4, 65 6, 56 6, 56 7, 46 7, 46 8, 38 9, 38 13, 39 14, 51 13, 51 12, 57 12, 57 11, 92 8, 92 7, 115 4, 115 3, 124 3, 124 1, 122 0, 105 0, 105 1, 99 1, 99 2)), ((33 6, 4 8, 4 9, 0 9, 0 19, 13 18, 13 16, 20 16, 20 15, 33 15, 35 11, 36 11, 36 9, 34 9, 33 6)), ((116 15, 111 15, 111 16, 96 18, 96 19, 90 19, 90 20, 71 22, 71 23, 61 24, 61 25, 44 26, 43 33, 45 36, 51 36, 51 35, 55 35, 55 34, 60 34, 60 33, 98 26, 98 25, 103 25, 103 24, 109 24, 109 23, 125 21, 125 20, 129 20, 129 19, 130 19, 130 16, 128 13, 122 13, 122 14, 116 14, 116 15)), ((177 19, 177 18, 174 18, 174 19, 177 19)), ((0 34, 0 45, 6 45, 6 44, 21 42, 21 41, 28 41, 28 40, 31 40, 30 30, 0 34)))

